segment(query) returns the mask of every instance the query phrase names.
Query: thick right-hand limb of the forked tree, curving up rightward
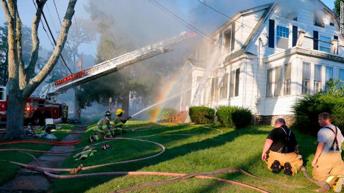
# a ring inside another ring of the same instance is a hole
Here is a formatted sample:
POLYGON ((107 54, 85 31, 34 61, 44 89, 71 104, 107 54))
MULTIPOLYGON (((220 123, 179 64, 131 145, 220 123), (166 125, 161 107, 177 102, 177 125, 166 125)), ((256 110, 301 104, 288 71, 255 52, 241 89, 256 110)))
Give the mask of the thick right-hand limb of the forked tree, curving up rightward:
POLYGON ((50 56, 48 62, 43 67, 42 71, 39 72, 34 78, 31 79, 29 84, 23 90, 22 98, 27 98, 34 91, 37 86, 49 75, 57 63, 58 57, 60 56, 64 44, 67 40, 67 34, 69 27, 72 24, 72 17, 74 15, 74 7, 77 0, 69 0, 67 11, 63 20, 60 35, 58 36, 57 45, 55 46, 54 52, 50 56))

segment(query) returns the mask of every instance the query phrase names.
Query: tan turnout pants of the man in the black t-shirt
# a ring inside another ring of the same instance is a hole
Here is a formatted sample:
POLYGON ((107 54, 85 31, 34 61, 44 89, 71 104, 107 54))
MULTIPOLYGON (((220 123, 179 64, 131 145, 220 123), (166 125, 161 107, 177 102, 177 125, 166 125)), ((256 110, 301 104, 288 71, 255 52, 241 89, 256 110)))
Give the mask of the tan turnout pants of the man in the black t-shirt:
POLYGON ((292 153, 278 153, 274 151, 270 151, 269 158, 266 161, 266 164, 268 165, 269 170, 271 170, 271 165, 275 160, 278 160, 280 164, 283 166, 284 163, 289 162, 291 165, 291 171, 293 172, 293 175, 298 173, 302 167, 302 158, 301 155, 296 154, 295 152, 292 153))

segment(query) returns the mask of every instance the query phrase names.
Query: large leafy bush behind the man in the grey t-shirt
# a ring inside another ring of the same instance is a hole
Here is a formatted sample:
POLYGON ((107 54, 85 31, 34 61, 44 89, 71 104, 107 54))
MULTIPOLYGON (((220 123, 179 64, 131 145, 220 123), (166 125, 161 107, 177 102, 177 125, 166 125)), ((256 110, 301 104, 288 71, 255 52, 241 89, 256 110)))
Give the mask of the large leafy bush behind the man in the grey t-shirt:
POLYGON ((323 92, 299 99, 292 106, 295 114, 293 128, 302 133, 316 136, 320 126, 318 116, 328 112, 332 116, 332 124, 344 129, 344 97, 337 97, 323 92))

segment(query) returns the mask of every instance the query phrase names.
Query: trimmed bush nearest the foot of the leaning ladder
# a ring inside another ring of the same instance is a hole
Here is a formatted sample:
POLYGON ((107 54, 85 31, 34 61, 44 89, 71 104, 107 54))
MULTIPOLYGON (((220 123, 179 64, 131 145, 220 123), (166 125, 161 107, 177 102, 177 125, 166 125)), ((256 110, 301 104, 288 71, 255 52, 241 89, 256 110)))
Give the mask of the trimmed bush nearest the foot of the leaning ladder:
POLYGON ((214 123, 215 110, 208 107, 190 107, 189 116, 195 124, 214 123))

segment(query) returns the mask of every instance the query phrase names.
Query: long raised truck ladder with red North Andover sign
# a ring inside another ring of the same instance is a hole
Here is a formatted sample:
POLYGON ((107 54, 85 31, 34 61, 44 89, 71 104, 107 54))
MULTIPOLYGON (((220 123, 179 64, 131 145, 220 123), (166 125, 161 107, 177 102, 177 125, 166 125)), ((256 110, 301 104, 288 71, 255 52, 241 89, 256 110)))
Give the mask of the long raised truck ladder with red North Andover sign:
POLYGON ((148 45, 139 50, 129 52, 111 60, 88 67, 75 74, 69 75, 53 83, 43 86, 40 92, 40 98, 56 101, 58 94, 65 92, 69 88, 92 81, 107 74, 114 73, 126 66, 135 64, 142 60, 146 60, 147 58, 173 51, 172 49, 170 49, 171 47, 194 36, 196 36, 195 33, 182 32, 179 35, 176 35, 169 39, 157 42, 152 45, 148 45))

